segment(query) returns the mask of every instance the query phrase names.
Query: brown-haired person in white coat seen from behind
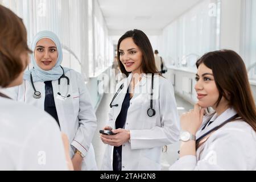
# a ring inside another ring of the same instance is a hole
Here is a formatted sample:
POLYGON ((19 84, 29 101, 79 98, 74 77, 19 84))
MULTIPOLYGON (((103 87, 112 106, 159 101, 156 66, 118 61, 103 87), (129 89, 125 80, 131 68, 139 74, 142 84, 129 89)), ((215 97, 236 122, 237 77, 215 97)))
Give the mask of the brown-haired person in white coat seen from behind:
POLYGON ((0 170, 72 169, 54 119, 2 93, 22 84, 31 51, 22 19, 1 5, 0 17, 0 170))

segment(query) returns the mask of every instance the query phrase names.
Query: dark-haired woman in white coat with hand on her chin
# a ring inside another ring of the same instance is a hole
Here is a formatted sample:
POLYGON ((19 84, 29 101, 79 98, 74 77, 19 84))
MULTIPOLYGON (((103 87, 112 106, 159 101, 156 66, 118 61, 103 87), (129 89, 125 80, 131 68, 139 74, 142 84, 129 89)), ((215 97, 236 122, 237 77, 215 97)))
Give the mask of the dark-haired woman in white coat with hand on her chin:
POLYGON ((170 169, 256 170, 256 109, 242 58, 214 51, 196 65, 198 103, 181 116, 180 159, 170 169), (215 111, 204 116, 207 107, 215 111))

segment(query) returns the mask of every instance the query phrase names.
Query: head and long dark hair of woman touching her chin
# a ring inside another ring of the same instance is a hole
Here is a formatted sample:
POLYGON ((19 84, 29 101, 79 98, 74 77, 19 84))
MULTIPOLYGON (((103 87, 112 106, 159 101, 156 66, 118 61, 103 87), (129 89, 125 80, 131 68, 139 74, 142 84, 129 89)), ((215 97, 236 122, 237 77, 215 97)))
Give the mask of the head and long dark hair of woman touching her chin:
POLYGON ((233 107, 256 131, 256 108, 242 58, 234 51, 209 52, 196 63, 195 89, 202 107, 233 107))

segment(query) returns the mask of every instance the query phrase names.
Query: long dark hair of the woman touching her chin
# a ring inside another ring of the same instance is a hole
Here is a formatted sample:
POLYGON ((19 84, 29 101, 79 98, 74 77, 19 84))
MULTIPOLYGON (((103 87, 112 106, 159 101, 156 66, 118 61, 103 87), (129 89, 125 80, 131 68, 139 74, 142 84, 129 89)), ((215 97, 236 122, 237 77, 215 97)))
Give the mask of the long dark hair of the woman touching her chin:
POLYGON ((234 51, 221 50, 206 53, 197 61, 197 68, 200 64, 212 69, 220 94, 216 106, 224 97, 229 106, 256 131, 256 107, 242 58, 234 51))

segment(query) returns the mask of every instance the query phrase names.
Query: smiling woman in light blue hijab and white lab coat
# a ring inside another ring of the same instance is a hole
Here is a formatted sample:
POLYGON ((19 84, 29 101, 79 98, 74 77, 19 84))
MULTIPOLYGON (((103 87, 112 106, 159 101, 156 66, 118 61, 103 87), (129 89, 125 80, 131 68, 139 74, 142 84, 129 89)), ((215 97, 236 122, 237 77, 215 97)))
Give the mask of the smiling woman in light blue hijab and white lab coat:
POLYGON ((22 85, 10 90, 13 98, 55 118, 71 142, 69 153, 75 170, 97 170, 92 146, 96 115, 84 78, 73 69, 60 66, 63 53, 53 32, 38 32, 32 40, 32 51, 33 68, 24 73, 22 85), (40 92, 40 98, 34 97, 35 90, 40 92))

